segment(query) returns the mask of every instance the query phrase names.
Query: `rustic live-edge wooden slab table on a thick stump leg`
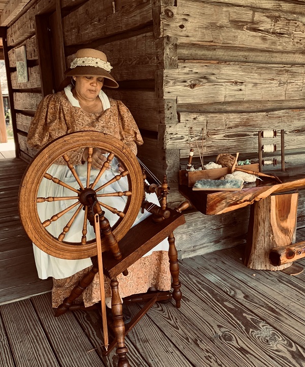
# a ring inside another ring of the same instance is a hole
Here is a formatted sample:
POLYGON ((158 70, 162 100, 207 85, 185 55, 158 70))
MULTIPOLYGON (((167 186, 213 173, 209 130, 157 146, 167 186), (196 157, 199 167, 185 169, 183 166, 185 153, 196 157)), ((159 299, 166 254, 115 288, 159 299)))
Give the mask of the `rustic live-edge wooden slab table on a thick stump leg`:
POLYGON ((273 266, 269 262, 271 249, 295 243, 297 219, 297 189, 305 188, 305 170, 291 170, 274 180, 256 180, 240 191, 193 191, 179 185, 179 192, 205 215, 218 215, 251 205, 247 246, 243 263, 251 269, 282 270, 292 263, 273 266))

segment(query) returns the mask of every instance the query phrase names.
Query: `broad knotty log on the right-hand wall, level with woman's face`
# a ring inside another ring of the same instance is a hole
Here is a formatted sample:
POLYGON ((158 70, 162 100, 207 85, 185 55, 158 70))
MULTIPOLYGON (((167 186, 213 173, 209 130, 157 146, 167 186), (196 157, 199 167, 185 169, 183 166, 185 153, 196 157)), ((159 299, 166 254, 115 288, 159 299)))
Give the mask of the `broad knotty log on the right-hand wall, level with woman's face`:
POLYGON ((164 98, 177 103, 293 100, 304 98, 305 66, 185 62, 164 70, 164 98))

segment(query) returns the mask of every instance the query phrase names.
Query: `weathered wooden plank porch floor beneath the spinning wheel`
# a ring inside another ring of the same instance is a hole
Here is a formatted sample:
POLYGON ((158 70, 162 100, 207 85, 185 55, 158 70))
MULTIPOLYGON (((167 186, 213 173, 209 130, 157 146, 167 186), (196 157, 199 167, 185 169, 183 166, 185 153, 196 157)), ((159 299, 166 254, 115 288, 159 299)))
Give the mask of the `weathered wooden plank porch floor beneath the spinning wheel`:
MULTIPOLYGON (((15 172, 26 167, 21 160, 12 163, 15 172)), ((37 279, 31 242, 13 209, 18 179, 2 163, 0 175, 0 367, 116 366, 114 351, 102 356, 99 311, 53 316, 50 292, 39 288, 45 281, 37 279), (28 298, 5 303, 6 293, 28 298)), ((304 235, 299 229, 297 240, 304 235)), ((251 270, 242 264, 242 252, 240 246, 180 261, 181 308, 156 304, 129 332, 131 366, 305 365, 305 272, 251 270)), ((305 259, 297 263, 305 266, 305 259)), ((139 305, 129 308, 135 314, 139 305)))

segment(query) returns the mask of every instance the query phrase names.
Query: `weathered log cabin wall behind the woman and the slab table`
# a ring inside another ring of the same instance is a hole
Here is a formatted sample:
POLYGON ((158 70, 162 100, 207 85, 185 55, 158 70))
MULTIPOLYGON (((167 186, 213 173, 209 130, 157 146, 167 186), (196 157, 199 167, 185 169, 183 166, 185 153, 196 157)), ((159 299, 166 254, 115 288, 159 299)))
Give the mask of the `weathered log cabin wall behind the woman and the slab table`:
MULTIPOLYGON (((43 96, 35 17, 56 9, 58 15, 58 4, 66 65, 79 48, 107 54, 120 88, 105 91, 134 115, 144 140, 138 156, 159 179, 167 174, 171 206, 184 200, 179 161, 194 135, 204 156, 239 151, 257 157, 258 130, 285 129, 287 165, 305 158, 305 1, 40 0, 8 29, 23 159, 35 154, 26 135, 43 96), (28 83, 16 78, 14 49, 22 44, 28 83)), ((301 195, 298 226, 305 224, 304 200, 301 195)), ((175 231, 180 257, 245 241, 248 216, 249 208, 221 216, 189 210, 187 224, 175 231)))

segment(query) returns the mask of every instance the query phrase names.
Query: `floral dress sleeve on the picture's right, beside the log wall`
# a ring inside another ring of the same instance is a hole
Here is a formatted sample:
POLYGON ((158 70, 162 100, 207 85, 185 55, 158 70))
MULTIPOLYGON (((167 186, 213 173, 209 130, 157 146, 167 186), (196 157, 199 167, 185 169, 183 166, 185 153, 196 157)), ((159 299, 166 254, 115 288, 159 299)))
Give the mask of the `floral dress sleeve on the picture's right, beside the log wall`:
POLYGON ((136 155, 137 144, 142 145, 143 139, 129 109, 123 102, 117 101, 120 140, 123 141, 136 155))

